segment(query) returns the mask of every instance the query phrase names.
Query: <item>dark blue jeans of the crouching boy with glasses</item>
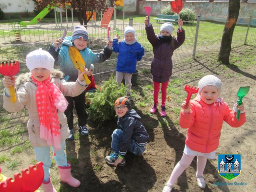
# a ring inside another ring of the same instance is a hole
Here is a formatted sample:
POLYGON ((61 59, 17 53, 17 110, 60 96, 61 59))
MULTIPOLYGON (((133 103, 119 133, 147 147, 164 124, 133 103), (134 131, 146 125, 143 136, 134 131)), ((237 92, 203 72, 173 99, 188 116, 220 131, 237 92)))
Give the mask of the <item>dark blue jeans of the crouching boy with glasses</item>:
MULTIPOLYGON (((123 131, 121 129, 116 129, 113 131, 112 134, 112 142, 111 142, 111 148, 114 151, 116 155, 119 154, 119 145, 123 137, 123 131)), ((134 139, 132 139, 129 151, 133 153, 134 155, 141 155, 145 151, 145 147, 140 147, 134 139)))

